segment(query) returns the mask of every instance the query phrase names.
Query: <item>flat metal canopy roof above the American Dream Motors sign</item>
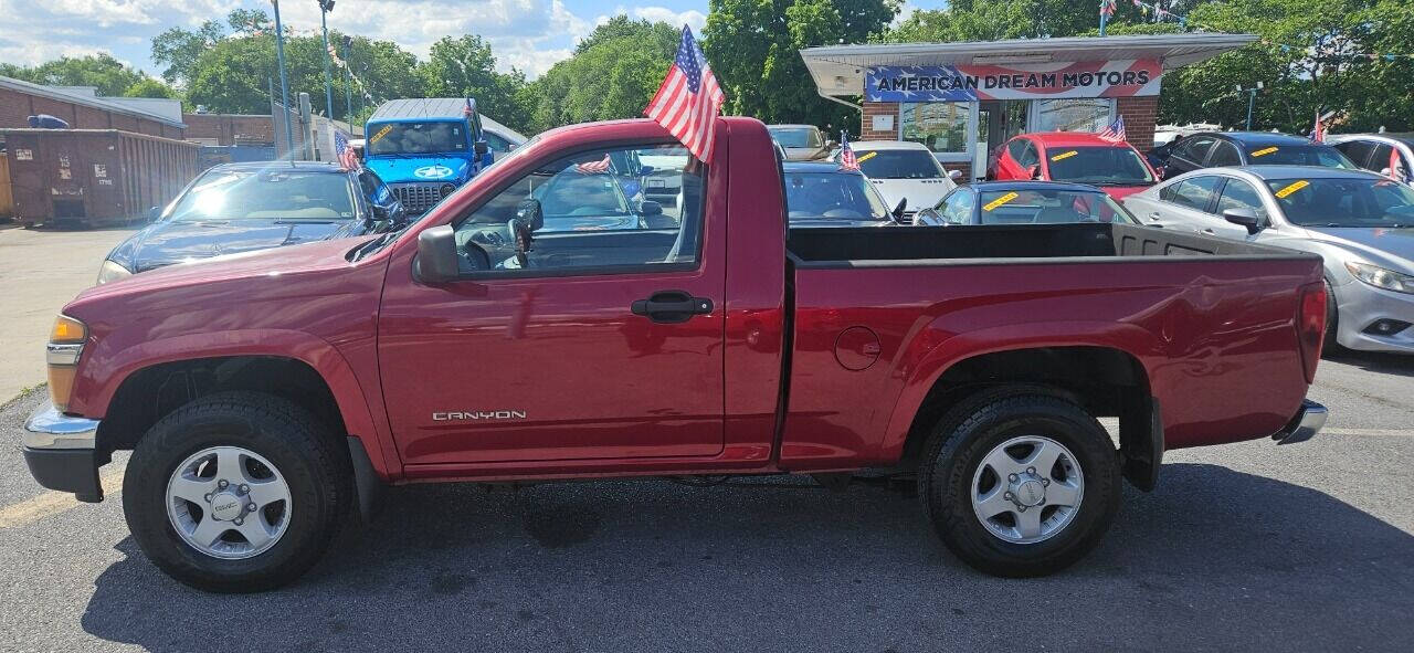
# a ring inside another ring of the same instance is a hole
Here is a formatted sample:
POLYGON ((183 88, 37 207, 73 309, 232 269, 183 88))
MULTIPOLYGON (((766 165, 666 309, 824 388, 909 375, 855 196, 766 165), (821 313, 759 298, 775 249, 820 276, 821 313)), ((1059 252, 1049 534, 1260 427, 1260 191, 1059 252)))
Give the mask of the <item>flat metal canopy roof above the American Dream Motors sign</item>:
POLYGON ((1007 41, 830 45, 800 51, 816 89, 826 96, 864 92, 870 66, 1019 65, 1158 59, 1165 71, 1210 59, 1257 41, 1253 34, 1159 34, 1134 37, 1015 38, 1007 41))

